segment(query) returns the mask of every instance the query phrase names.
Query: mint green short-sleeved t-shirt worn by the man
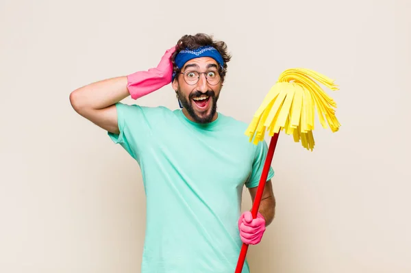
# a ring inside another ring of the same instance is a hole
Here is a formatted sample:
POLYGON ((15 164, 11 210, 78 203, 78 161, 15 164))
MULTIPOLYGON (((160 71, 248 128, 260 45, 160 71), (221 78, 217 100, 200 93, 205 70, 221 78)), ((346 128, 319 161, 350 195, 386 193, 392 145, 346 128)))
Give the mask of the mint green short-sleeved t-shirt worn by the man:
POLYGON ((108 135, 138 162, 147 197, 141 272, 234 272, 242 189, 258 186, 266 142, 252 144, 245 122, 220 113, 201 125, 180 109, 116 109, 120 133, 108 135))

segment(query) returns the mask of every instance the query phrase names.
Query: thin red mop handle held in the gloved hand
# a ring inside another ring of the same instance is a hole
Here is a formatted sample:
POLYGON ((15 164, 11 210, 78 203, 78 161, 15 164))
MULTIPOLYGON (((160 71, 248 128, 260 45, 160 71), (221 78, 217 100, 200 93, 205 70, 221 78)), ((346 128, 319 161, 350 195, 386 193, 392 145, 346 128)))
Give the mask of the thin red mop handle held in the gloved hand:
MULTIPOLYGON (((275 151, 275 146, 277 146, 278 140, 278 133, 275 133, 273 137, 271 137, 269 151, 267 151, 266 160, 264 162, 264 168, 262 169, 262 174, 260 178, 260 183, 258 183, 256 198, 254 198, 253 207, 251 209, 251 214, 253 219, 257 218, 258 209, 260 208, 262 193, 264 192, 264 187, 267 181, 267 177, 269 176, 269 170, 271 167, 271 162, 273 161, 273 155, 275 151)), ((244 265, 245 256, 247 255, 248 244, 243 243, 242 248, 240 251, 240 256, 238 257, 237 268, 235 273, 241 273, 242 267, 244 265)))

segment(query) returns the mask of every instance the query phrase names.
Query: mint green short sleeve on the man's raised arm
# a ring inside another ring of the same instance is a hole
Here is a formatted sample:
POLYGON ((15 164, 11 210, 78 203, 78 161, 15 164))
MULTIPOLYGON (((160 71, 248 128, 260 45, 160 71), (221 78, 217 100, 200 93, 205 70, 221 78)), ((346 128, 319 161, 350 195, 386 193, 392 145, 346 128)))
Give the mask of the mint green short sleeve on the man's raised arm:
POLYGON ((140 105, 116 103, 116 112, 119 133, 108 132, 108 136, 138 161, 142 147, 147 146, 150 142, 149 120, 154 116, 156 110, 140 105))

